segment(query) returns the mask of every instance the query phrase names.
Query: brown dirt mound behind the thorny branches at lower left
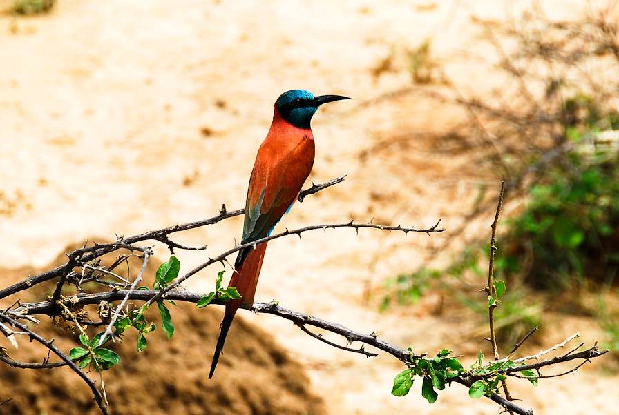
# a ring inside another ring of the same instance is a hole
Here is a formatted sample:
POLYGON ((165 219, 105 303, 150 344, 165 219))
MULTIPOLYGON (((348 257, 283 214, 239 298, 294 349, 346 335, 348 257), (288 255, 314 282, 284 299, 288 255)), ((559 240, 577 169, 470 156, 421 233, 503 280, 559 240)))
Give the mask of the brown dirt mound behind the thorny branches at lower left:
MULTIPOLYGON (((64 252, 70 252, 68 247, 64 252)), ((66 259, 59 256, 55 264, 66 259)), ((153 276, 158 263, 149 264, 153 276)), ((1 270, 3 284, 16 281, 36 270, 1 270)), ((44 287, 51 292, 53 285, 44 287)), ((39 291, 40 294, 41 291, 39 291)), ((45 298, 48 294, 39 296, 45 298)), ((24 298, 26 299, 26 298, 24 298)), ((6 305, 3 305, 6 307, 6 305)), ((215 377, 207 370, 219 334, 222 310, 198 309, 193 304, 169 306, 176 327, 168 340, 160 328, 156 307, 146 314, 158 325, 148 334, 148 347, 135 351, 136 336, 127 332, 122 343, 111 345, 120 354, 120 365, 104 372, 112 414, 324 414, 323 401, 309 390, 301 365, 279 347, 272 336, 237 318, 230 330, 225 354, 215 377), (155 309, 155 310, 153 310, 155 309)), ((68 351, 79 345, 77 335, 62 332, 42 316, 40 334, 55 338, 54 344, 68 351)), ((97 331, 102 331, 101 329, 97 331)), ((0 345, 13 358, 40 362, 46 350, 17 336, 19 351, 6 339, 0 345)), ((51 361, 57 361, 52 356, 51 361)), ((93 379, 95 372, 89 374, 93 379)), ((21 370, 0 364, 0 414, 97 414, 88 387, 66 367, 53 370, 21 370)))

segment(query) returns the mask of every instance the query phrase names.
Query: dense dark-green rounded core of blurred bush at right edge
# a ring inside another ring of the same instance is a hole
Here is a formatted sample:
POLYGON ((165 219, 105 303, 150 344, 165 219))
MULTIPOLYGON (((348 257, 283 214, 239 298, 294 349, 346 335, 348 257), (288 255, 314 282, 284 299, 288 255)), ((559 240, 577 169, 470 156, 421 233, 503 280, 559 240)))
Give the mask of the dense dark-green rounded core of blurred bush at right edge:
POLYGON ((619 166, 616 154, 571 153, 529 190, 508 221, 502 270, 548 290, 611 282, 619 265, 619 166))

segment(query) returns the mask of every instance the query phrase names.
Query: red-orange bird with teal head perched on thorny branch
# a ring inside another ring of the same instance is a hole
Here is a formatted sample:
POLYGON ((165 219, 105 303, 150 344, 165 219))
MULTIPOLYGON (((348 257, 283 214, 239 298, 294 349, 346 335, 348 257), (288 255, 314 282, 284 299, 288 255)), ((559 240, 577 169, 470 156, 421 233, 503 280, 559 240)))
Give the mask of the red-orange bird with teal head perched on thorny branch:
MULTIPOLYGON (((342 99, 351 98, 341 95, 316 97, 307 90, 289 90, 275 101, 271 128, 258 149, 249 178, 241 244, 270 236, 282 216, 290 210, 314 165, 312 117, 319 106, 342 99)), ((226 303, 209 379, 215 373, 236 311, 239 307, 250 308, 254 304, 266 249, 267 242, 263 242, 238 252, 229 287, 236 287, 241 298, 226 303)))

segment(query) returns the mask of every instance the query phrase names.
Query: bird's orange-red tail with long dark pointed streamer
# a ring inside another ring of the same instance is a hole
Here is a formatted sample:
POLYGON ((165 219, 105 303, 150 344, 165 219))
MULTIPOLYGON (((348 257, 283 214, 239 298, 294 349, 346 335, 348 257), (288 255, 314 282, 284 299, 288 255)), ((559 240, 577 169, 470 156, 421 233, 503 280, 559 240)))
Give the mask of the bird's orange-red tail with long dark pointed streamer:
MULTIPOLYGON (((265 257, 266 249, 267 243, 260 243, 260 245, 252 249, 249 254, 245 255, 245 259, 242 260, 240 265, 236 264, 236 270, 232 274, 229 287, 236 287, 236 290, 242 298, 226 303, 226 312, 221 322, 221 333, 217 339, 215 354, 213 354, 213 363, 211 363, 209 379, 212 378, 215 373, 215 367, 217 367, 219 355, 224 350, 226 336, 232 325, 236 310, 238 310, 239 307, 248 308, 254 305, 254 294, 256 294, 256 285, 258 285, 258 276, 260 276, 260 268, 263 266, 263 258, 265 257)), ((241 253, 239 254, 241 255, 241 253)))

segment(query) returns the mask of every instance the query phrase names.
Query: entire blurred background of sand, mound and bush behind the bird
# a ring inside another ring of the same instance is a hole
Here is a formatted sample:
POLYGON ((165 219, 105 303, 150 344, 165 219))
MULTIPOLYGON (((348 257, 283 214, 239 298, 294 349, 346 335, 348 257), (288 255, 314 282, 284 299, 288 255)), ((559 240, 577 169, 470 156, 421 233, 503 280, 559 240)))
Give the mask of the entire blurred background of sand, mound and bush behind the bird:
MULTIPOLYGON (((354 101, 314 117, 310 180, 347 178, 295 205, 279 226, 355 219, 429 227, 442 218, 446 232, 343 229, 274 241, 256 301, 276 298, 415 352, 447 347, 466 362, 479 350, 491 354, 479 290, 504 180, 497 237, 497 278, 508 288, 497 309, 503 354, 535 326, 522 354, 574 332, 612 350, 537 387, 511 381, 511 392, 537 414, 616 412, 616 1, 0 0, 0 10, 2 285, 48 269, 71 244, 197 221, 222 203, 242 207, 278 95, 293 88, 343 94, 354 101)), ((214 256, 240 238, 241 226, 237 217, 177 241, 208 243, 214 256)), ((155 254, 164 261, 169 252, 155 246, 155 254)), ((205 255, 178 252, 182 270, 205 255)), ((210 291, 218 270, 204 270, 187 287, 210 291)), ((458 385, 433 405, 420 385, 397 398, 390 390, 402 367, 389 356, 346 353, 280 318, 248 312, 233 332, 265 340, 254 341, 251 353, 232 352, 249 361, 245 372, 224 355, 222 378, 209 384, 220 310, 194 308, 189 317, 173 310, 187 337, 151 342, 139 376, 128 364, 111 370, 114 413, 144 413, 146 385, 166 376, 169 387, 149 389, 159 405, 151 413, 499 410, 458 385), (196 338, 204 318, 211 328, 196 338), (171 354, 177 360, 166 360, 171 354), (273 378, 281 385, 266 388, 273 378), (245 383, 225 396, 213 386, 245 383), (170 396, 187 398, 187 385, 193 407, 188 399, 185 407, 162 406, 170 396), (252 388, 266 392, 254 396, 252 388), (203 398, 207 392, 216 398, 203 398), (247 405, 233 403, 244 399, 247 405)), ((57 331, 48 336, 75 341, 57 331)), ((136 358, 133 346, 121 355, 136 358)), ((80 398, 50 393, 40 381, 52 382, 49 372, 16 372, 0 367, 12 388, 0 398, 13 398, 0 413, 92 407, 87 389, 75 386, 80 398)), ((74 374, 53 376, 64 376, 68 389, 78 383, 74 374)))

